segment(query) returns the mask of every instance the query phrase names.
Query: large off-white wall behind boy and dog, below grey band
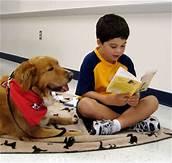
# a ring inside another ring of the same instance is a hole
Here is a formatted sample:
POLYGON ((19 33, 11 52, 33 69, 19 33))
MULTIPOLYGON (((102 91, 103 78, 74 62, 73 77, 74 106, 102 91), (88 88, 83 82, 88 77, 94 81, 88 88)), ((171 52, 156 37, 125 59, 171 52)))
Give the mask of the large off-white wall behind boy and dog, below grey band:
MULTIPOLYGON (((24 57, 51 55, 62 66, 79 70, 85 54, 96 46, 95 24, 103 14, 3 18, 0 51, 24 57), (43 40, 38 39, 39 30, 43 40)), ((171 12, 117 14, 130 26, 126 53, 133 59, 138 76, 157 69, 151 87, 172 92, 171 12)))

